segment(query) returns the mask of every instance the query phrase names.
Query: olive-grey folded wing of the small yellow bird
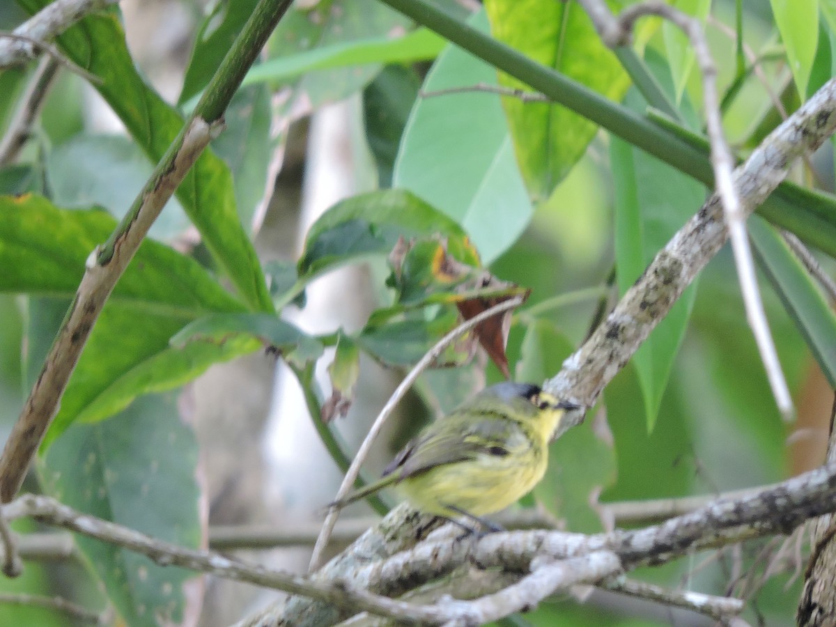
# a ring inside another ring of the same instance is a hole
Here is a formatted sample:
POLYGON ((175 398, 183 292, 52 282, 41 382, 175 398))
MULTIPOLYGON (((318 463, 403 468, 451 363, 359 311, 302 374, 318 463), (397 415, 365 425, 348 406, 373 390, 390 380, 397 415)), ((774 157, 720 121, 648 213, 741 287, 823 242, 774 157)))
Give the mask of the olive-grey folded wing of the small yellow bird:
POLYGON ((442 420, 458 421, 461 428, 447 424, 446 428, 431 429, 418 436, 386 466, 384 476, 397 472, 400 481, 436 466, 472 460, 479 455, 506 456, 526 445, 525 434, 514 421, 490 417, 473 421, 472 417, 459 419, 457 416, 442 420))

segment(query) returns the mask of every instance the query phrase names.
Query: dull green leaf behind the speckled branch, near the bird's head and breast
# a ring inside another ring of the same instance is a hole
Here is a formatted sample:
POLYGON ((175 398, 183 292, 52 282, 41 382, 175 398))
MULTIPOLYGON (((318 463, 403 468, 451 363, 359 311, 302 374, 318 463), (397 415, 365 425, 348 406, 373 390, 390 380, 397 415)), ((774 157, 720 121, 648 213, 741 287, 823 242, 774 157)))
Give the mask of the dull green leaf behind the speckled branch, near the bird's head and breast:
MULTIPOLYGON (((540 384, 560 370, 573 345, 546 320, 528 325, 517 381, 540 384)), ((590 413, 589 421, 592 422, 590 413)), ((534 487, 538 502, 555 516, 566 520, 576 532, 601 530, 599 516, 589 503, 593 492, 615 480, 615 455, 611 442, 603 441, 589 424, 570 429, 549 447, 548 471, 534 487)))

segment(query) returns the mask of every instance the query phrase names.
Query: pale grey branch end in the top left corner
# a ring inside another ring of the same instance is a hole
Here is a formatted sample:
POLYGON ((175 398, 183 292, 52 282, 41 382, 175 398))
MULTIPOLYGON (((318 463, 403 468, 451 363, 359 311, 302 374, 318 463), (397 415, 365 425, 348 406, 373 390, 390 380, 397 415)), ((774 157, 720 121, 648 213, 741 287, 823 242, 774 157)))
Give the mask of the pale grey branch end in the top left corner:
MULTIPOLYGON (((101 11, 119 0, 55 0, 15 28, 6 39, 0 38, 0 69, 26 63, 38 50, 89 13, 101 11)), ((59 54, 60 56, 60 54, 59 54)))

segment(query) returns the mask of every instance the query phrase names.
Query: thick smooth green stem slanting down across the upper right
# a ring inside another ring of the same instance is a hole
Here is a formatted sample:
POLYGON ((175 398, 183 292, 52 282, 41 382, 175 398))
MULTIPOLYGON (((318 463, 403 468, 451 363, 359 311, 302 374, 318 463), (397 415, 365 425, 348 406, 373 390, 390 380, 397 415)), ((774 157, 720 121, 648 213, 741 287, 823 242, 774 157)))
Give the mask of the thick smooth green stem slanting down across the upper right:
MULTIPOLYGON (((614 135, 658 157, 677 170, 714 188, 714 175, 706 155, 661 129, 652 121, 605 99, 556 70, 538 64, 525 54, 498 42, 433 6, 428 0, 380 0, 495 68, 522 80, 558 104, 609 130, 614 135)), ((767 220, 794 232, 805 242, 836 256, 836 198, 802 190, 783 181, 757 210, 767 220), (799 196, 813 198, 818 211, 798 204, 799 196)))

